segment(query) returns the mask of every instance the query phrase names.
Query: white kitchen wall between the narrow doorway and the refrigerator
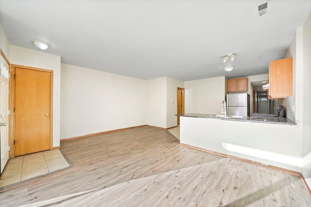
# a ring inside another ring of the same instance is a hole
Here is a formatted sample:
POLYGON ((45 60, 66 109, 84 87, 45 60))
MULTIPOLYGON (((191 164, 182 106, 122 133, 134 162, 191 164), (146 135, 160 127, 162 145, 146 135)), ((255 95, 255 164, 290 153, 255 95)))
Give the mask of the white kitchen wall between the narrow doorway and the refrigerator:
POLYGON ((185 81, 185 113, 221 114, 225 80, 222 76, 185 81))

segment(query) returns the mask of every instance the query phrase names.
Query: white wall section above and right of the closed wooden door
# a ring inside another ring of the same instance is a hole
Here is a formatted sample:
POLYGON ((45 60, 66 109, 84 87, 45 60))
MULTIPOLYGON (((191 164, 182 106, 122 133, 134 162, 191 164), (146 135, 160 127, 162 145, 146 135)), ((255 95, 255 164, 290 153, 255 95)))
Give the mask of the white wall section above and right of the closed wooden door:
POLYGON ((10 46, 10 63, 53 70, 53 147, 60 145, 60 56, 10 46))

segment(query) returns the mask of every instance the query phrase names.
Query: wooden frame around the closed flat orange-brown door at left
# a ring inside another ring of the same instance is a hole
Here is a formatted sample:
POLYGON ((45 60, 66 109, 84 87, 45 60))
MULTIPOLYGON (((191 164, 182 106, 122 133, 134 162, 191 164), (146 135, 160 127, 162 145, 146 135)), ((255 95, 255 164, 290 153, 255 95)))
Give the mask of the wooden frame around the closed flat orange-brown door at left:
POLYGON ((15 68, 22 68, 22 69, 29 69, 29 70, 36 70, 36 71, 43 71, 43 72, 49 72, 50 73, 50 150, 53 149, 53 70, 48 70, 48 69, 42 69, 42 68, 36 68, 36 67, 29 67, 29 66, 24 66, 24 65, 17 65, 17 64, 12 64, 12 74, 11 77, 11 111, 12 114, 12 119, 11 119, 11 128, 12 128, 12 139, 10 146, 11 146, 11 151, 10 151, 10 157, 15 158, 15 75, 16 75, 16 70, 15 68))

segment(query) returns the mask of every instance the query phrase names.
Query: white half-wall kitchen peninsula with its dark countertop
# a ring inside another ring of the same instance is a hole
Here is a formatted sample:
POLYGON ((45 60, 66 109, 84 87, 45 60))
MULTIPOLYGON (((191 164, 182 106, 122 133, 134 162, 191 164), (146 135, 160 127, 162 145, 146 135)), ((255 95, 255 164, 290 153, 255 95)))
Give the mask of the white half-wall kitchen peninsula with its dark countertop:
POLYGON ((186 113, 180 116, 180 143, 300 174, 299 129, 288 118, 224 117, 186 113))

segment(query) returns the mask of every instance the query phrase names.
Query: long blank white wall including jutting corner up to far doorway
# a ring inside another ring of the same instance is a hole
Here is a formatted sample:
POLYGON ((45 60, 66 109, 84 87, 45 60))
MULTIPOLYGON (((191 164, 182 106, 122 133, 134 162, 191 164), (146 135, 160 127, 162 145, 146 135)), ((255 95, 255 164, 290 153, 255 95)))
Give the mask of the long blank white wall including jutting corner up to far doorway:
POLYGON ((177 87, 184 82, 61 64, 61 139, 141 125, 175 127, 177 87))

